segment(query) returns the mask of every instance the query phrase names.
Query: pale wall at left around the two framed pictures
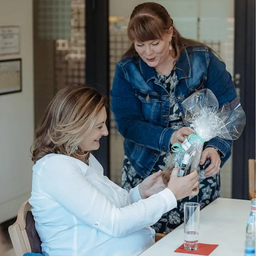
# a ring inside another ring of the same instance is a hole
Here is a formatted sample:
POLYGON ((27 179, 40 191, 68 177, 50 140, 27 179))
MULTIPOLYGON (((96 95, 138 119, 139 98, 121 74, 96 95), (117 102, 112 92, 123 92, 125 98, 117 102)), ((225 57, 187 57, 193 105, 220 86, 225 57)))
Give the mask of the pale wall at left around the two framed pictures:
POLYGON ((31 191, 34 137, 32 0, 1 0, 0 26, 20 26, 22 92, 0 95, 0 222, 14 217, 31 191))

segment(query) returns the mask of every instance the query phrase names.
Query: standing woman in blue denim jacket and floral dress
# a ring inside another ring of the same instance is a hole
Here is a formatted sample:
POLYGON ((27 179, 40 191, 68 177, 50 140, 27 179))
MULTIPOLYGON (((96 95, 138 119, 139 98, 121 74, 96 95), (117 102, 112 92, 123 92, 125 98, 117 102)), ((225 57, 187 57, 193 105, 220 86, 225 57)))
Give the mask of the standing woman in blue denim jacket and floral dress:
MULTIPOLYGON (((124 136, 122 187, 135 187, 163 169, 174 143, 193 131, 184 126, 182 102, 196 90, 212 90, 221 107, 237 97, 226 66, 206 45, 183 38, 166 9, 148 2, 130 16, 129 50, 116 66, 111 97, 118 131, 124 136)), ((220 167, 230 157, 231 140, 213 138, 200 160, 200 192, 178 200, 177 208, 153 226, 168 233, 183 222, 185 202, 201 207, 220 196, 220 167)))

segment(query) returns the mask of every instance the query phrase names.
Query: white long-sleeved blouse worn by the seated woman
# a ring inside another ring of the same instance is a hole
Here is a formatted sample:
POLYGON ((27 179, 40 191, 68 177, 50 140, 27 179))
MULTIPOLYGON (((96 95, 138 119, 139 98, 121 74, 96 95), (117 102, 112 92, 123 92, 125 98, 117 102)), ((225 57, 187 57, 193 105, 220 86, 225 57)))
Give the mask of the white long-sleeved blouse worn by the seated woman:
POLYGON ((91 154, 48 154, 33 166, 29 199, 45 256, 133 256, 154 244, 149 226, 177 206, 168 188, 141 199, 120 188, 91 154))

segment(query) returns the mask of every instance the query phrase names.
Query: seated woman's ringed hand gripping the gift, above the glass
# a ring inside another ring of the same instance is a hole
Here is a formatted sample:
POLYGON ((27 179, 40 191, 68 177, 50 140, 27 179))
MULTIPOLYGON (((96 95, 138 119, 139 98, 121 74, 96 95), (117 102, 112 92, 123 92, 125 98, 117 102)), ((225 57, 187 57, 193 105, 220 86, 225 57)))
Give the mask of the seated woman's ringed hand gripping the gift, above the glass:
POLYGON ((194 170, 194 172, 191 172, 184 177, 178 177, 178 170, 179 168, 174 168, 172 170, 167 188, 172 191, 176 200, 180 200, 187 196, 196 196, 199 193, 197 170, 194 170))

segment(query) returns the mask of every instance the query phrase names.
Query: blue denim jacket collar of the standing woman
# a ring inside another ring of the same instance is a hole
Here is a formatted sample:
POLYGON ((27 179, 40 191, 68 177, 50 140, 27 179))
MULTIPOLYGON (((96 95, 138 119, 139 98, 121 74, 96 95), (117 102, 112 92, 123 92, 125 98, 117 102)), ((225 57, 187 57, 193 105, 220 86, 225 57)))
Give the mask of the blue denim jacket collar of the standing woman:
MULTIPOLYGON (((142 58, 139 58, 140 62, 140 71, 142 73, 142 76, 148 82, 151 79, 157 79, 156 76, 156 70, 154 68, 151 68, 142 60, 142 58)), ((189 78, 191 75, 191 66, 190 61, 188 58, 188 52, 186 49, 184 49, 180 53, 180 58, 178 59, 176 63, 176 75, 178 77, 178 80, 182 78, 189 78)))

